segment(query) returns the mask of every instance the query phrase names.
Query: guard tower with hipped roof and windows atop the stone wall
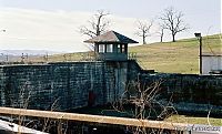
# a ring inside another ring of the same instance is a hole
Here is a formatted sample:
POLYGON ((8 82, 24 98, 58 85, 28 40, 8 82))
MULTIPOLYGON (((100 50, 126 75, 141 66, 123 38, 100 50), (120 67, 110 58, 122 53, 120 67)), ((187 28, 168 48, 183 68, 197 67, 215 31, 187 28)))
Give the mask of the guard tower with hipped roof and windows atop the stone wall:
POLYGON ((128 44, 138 43, 115 31, 109 31, 84 42, 94 43, 97 60, 102 61, 127 61, 128 44))

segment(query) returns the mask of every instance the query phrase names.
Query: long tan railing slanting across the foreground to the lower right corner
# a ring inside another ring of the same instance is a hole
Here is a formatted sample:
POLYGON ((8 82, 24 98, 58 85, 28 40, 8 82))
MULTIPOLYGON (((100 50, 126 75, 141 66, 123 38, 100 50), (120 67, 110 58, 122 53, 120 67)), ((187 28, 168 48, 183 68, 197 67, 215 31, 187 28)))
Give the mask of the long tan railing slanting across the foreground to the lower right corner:
POLYGON ((12 107, 0 107, 0 114, 43 117, 43 118, 47 117, 52 120, 79 121, 85 123, 124 125, 124 126, 135 126, 135 127, 147 127, 147 128, 158 128, 158 130, 171 130, 178 132, 185 132, 189 134, 196 134, 196 132, 202 132, 203 134, 221 134, 222 132, 222 126, 172 123, 164 121, 150 121, 140 118, 127 118, 127 117, 101 116, 101 115, 12 109, 12 107))

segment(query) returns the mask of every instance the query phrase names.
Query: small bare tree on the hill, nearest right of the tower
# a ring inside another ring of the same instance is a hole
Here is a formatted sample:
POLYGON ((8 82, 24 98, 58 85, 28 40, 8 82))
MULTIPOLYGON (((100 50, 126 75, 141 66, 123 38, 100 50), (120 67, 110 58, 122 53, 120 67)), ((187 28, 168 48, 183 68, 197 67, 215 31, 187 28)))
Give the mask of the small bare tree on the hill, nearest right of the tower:
POLYGON ((142 21, 138 21, 138 31, 135 32, 135 34, 138 37, 142 37, 142 43, 145 44, 145 38, 150 37, 150 29, 153 24, 153 21, 151 22, 142 22, 142 21))

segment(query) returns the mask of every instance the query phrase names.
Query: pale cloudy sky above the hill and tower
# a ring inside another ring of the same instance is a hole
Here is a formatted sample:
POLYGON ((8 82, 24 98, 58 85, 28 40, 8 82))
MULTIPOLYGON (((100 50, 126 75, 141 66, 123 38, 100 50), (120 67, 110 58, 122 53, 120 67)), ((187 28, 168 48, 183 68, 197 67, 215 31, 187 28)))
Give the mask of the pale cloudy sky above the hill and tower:
MULTIPOLYGON (((0 0, 0 50, 50 50, 58 52, 88 51, 88 37, 79 33, 81 25, 97 10, 110 12, 110 30, 139 42, 137 22, 154 20, 147 42, 158 42, 158 17, 165 8, 184 13, 190 29, 176 39, 221 32, 221 0, 0 0), (3 32, 2 30, 6 30, 3 32)), ((164 41, 170 41, 167 32, 164 41)))

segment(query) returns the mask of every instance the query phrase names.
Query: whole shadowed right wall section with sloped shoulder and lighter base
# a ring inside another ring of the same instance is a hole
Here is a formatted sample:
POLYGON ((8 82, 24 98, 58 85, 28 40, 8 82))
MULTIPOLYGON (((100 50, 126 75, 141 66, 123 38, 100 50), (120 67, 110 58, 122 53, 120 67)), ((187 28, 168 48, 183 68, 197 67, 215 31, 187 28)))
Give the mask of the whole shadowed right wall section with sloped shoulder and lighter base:
POLYGON ((128 78, 145 86, 160 82, 158 100, 170 101, 180 111, 203 113, 212 109, 222 115, 222 75, 148 73, 131 61, 128 78))

